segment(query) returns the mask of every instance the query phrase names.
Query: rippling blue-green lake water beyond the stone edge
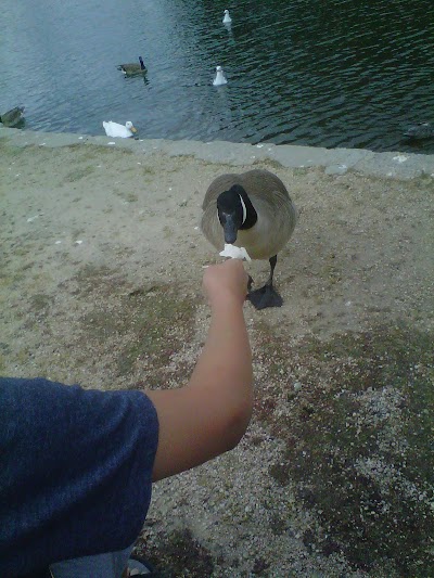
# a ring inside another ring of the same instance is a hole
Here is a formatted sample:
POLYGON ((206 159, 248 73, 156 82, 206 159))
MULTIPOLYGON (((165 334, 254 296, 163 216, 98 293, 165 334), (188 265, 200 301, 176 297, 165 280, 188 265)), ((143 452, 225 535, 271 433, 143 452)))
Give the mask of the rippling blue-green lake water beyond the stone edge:
POLYGON ((403 139, 434 121, 433 0, 1 4, 0 113, 25 105, 26 128, 434 153, 403 139), (146 77, 124 78, 139 55, 146 77))

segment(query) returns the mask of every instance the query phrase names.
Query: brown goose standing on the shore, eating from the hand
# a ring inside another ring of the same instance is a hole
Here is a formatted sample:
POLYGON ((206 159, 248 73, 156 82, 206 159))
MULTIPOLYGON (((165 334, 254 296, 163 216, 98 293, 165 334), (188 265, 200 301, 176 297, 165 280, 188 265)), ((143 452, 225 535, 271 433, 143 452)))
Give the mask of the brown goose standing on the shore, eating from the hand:
POLYGON ((256 307, 280 307, 272 286, 277 254, 290 240, 298 213, 283 182, 268 170, 217 177, 202 204, 201 229, 218 251, 225 244, 245 247, 252 259, 268 259, 270 275, 264 287, 247 298, 256 307))

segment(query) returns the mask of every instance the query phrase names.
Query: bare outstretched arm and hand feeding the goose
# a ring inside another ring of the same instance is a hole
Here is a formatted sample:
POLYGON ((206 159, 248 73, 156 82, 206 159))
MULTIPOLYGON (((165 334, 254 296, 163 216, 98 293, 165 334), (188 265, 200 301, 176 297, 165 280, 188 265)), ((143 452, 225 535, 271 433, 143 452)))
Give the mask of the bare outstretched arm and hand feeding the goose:
POLYGON ((247 274, 240 260, 208 267, 203 287, 212 319, 190 382, 149 390, 159 422, 154 481, 232 449, 252 416, 252 354, 243 316, 247 274))

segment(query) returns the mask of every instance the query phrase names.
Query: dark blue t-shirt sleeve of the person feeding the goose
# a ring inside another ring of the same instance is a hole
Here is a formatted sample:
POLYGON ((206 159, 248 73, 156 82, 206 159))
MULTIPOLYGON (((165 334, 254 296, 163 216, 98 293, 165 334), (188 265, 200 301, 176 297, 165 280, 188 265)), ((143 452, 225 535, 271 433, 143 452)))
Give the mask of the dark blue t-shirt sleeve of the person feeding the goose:
POLYGON ((141 391, 0 377, 0 576, 131 544, 157 441, 141 391))

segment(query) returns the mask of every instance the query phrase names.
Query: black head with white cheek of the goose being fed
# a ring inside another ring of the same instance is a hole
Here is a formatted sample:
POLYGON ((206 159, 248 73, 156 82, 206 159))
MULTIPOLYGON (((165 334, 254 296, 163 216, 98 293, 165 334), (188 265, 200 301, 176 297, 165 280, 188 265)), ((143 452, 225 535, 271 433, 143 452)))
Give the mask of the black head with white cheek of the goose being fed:
POLYGON ((240 184, 233 184, 218 195, 217 213, 228 244, 237 241, 239 230, 251 229, 257 221, 255 207, 240 184))

